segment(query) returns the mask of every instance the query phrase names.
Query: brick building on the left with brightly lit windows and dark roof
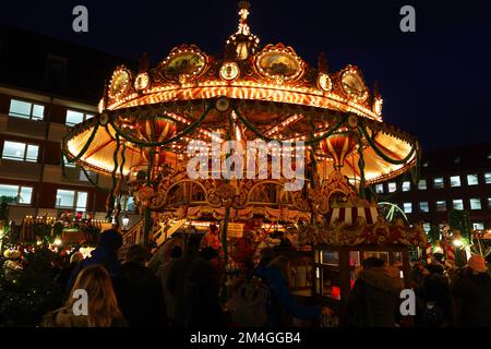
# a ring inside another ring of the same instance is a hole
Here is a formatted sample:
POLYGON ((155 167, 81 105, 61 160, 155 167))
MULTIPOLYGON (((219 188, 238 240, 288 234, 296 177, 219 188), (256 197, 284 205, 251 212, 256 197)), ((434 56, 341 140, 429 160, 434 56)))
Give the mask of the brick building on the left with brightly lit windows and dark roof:
MULTIPOLYGON (((71 127, 97 115, 104 79, 121 61, 0 26, 0 200, 16 225, 61 210, 105 217, 107 192, 64 159, 60 143, 71 127)), ((88 177, 111 186, 107 176, 88 177)))

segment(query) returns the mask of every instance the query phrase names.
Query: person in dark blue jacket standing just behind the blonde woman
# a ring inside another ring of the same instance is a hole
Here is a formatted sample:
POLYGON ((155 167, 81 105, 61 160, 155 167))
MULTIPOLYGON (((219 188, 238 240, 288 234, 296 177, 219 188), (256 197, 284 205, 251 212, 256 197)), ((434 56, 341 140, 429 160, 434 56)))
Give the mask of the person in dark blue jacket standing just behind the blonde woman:
POLYGON ((105 230, 99 236, 97 248, 92 251, 91 257, 83 261, 79 267, 74 268, 67 291, 70 291, 80 270, 92 265, 101 265, 113 279, 119 274, 118 251, 122 246, 122 237, 116 229, 105 230))

